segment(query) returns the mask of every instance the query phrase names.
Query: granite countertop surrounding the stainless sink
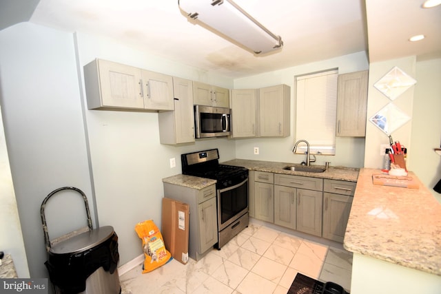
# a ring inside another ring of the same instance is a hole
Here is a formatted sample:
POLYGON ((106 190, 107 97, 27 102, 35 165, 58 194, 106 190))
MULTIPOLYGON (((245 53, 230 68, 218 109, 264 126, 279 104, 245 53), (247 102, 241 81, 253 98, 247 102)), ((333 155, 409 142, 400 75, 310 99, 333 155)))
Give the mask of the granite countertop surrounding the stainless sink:
MULTIPOLYGON (((352 169, 348 167, 329 167, 329 169, 322 173, 309 173, 305 171, 289 171, 283 169, 287 165, 295 165, 290 162, 273 162, 262 160, 247 160, 234 159, 227 162, 222 162, 223 165, 235 165, 238 167, 246 167, 252 171, 267 171, 274 174, 288 174, 295 176, 308 176, 311 178, 328 178, 331 180, 347 180, 349 182, 356 182, 358 178, 359 169, 352 169)), ((313 165, 317 167, 325 167, 323 165, 313 165)))

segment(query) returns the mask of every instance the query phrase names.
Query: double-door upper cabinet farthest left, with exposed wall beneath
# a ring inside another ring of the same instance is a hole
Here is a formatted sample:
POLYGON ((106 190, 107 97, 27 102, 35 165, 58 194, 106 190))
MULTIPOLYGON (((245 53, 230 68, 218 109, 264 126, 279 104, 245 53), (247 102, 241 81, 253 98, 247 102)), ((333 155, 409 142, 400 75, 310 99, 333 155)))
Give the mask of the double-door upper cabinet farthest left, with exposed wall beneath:
POLYGON ((84 79, 89 109, 174 109, 172 76, 95 59, 84 79))

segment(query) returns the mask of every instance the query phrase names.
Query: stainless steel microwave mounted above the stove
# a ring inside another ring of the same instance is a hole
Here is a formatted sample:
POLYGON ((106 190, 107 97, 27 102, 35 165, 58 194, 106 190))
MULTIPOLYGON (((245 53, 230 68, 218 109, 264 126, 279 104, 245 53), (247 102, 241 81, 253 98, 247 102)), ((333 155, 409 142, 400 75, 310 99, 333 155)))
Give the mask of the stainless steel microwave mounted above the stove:
POLYGON ((230 109, 194 105, 194 130, 196 138, 229 136, 230 109))

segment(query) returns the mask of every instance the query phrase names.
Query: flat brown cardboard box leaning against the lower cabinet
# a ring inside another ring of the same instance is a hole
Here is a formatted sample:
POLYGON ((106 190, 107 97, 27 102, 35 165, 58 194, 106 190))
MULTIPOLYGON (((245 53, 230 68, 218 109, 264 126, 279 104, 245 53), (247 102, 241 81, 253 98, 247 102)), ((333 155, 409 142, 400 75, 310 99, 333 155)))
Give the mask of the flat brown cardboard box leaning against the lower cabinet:
POLYGON ((189 205, 163 198, 162 235, 165 249, 175 260, 188 262, 189 205))

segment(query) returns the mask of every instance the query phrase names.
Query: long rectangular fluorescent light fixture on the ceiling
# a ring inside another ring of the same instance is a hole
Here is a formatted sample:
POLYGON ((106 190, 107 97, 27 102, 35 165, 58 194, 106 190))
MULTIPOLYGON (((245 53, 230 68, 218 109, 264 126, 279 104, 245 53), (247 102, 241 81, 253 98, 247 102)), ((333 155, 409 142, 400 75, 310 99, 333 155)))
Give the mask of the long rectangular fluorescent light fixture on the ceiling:
POLYGON ((178 0, 179 8, 189 19, 214 30, 228 41, 255 54, 283 47, 276 36, 232 0, 178 0))

